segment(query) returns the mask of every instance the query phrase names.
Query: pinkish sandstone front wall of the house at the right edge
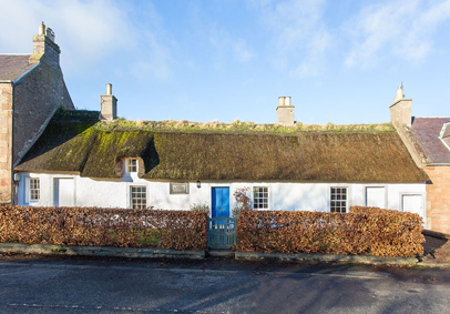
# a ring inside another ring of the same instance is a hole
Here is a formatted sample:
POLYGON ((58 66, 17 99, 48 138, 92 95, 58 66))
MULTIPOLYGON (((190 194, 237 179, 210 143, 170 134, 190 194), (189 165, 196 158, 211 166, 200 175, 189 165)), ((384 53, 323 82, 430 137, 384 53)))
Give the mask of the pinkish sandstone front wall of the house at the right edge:
POLYGON ((427 166, 427 229, 450 234, 450 166, 427 166))

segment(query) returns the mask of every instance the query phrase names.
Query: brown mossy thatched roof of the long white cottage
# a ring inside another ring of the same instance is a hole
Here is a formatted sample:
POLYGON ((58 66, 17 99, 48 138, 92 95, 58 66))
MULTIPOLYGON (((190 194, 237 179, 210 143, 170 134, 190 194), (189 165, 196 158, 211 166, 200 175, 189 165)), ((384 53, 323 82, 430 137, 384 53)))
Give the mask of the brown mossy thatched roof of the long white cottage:
POLYGON ((105 130, 92 119, 55 117, 16 168, 120 178, 122 158, 140 158, 142 178, 173 181, 428 181, 396 132, 295 135, 105 130))

